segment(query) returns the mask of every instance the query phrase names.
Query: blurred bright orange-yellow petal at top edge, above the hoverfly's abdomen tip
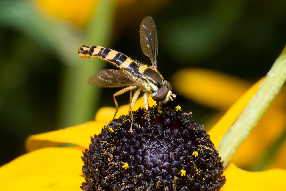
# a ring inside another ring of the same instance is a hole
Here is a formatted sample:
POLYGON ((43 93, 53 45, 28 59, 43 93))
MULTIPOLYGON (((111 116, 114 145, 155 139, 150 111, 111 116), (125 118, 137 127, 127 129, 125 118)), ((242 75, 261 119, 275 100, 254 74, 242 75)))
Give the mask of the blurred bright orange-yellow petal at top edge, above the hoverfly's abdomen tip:
POLYGON ((37 7, 58 19, 63 19, 83 27, 88 23, 98 5, 98 0, 34 0, 37 7))

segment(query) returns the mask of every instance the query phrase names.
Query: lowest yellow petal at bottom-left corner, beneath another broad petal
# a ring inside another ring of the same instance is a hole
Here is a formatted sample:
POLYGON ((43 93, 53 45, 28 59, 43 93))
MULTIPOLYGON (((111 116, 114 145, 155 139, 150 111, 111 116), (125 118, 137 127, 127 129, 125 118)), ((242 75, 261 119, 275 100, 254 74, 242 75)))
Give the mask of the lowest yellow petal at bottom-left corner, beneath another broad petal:
POLYGON ((17 179, 0 180, 1 190, 21 191, 80 191, 82 176, 40 175, 19 176, 17 179))

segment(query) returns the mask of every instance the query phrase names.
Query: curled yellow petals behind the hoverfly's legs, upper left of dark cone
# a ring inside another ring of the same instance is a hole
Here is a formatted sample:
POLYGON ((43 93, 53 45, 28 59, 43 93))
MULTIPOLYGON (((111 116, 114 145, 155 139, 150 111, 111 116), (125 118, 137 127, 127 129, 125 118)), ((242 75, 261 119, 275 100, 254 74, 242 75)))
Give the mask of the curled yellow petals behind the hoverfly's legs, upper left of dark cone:
MULTIPOLYGON (((152 106, 156 102, 150 98, 149 105, 152 106)), ((143 99, 138 99, 133 110, 137 110, 140 106, 144 106, 143 99)), ((116 117, 120 115, 128 114, 129 104, 119 107, 116 117)), ((90 136, 98 135, 104 125, 107 125, 113 118, 115 108, 102 107, 96 113, 96 121, 84 123, 74 127, 68 127, 57 131, 51 131, 38 135, 31 135, 26 140, 27 151, 33 151, 35 149, 44 147, 57 147, 63 143, 72 143, 84 148, 88 148, 90 143, 90 136)))

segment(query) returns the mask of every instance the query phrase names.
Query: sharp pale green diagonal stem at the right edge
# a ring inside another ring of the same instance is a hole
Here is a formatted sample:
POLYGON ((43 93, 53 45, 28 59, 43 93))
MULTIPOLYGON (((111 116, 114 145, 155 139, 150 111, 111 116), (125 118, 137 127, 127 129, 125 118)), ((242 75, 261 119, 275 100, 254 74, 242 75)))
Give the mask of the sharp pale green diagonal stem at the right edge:
POLYGON ((273 98, 280 91, 285 80, 286 46, 276 59, 257 93, 221 140, 217 151, 221 160, 224 161, 224 166, 227 165, 250 131, 255 127, 273 98))

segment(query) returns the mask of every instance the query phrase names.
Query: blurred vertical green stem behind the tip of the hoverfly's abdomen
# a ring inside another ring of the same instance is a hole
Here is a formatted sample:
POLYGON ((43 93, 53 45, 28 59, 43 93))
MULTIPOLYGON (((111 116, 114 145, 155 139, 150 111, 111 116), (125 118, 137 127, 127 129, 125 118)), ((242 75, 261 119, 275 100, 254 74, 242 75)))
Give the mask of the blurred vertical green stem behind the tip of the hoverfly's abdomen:
POLYGON ((77 125, 94 119, 99 103, 100 88, 90 86, 86 80, 102 70, 105 63, 100 59, 82 59, 77 56, 83 45, 109 46, 112 35, 114 3, 111 0, 99 1, 97 10, 89 25, 82 31, 82 41, 71 52, 72 64, 66 64, 62 82, 59 127, 77 125))

